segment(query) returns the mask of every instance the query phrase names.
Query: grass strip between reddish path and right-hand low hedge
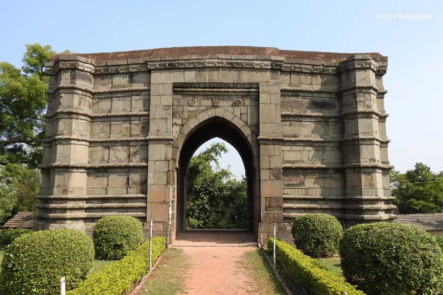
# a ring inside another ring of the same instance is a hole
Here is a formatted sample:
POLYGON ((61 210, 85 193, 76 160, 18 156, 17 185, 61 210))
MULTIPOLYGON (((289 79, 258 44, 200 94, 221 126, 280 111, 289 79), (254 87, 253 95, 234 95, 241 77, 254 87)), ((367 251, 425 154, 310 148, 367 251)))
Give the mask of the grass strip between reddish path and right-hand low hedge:
POLYGON ((269 264, 260 251, 251 251, 245 254, 244 260, 239 262, 245 269, 245 274, 254 287, 254 294, 284 295, 285 289, 275 278, 269 264))

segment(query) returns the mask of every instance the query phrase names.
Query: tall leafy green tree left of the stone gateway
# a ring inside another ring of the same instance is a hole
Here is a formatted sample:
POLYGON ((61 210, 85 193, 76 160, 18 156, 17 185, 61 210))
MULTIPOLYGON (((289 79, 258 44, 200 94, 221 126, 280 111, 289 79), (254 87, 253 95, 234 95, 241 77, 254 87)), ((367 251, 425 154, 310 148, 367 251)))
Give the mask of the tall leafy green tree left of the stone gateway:
POLYGON ((0 62, 0 224, 36 210, 49 81, 44 64, 53 54, 50 45, 28 44, 21 69, 0 62))

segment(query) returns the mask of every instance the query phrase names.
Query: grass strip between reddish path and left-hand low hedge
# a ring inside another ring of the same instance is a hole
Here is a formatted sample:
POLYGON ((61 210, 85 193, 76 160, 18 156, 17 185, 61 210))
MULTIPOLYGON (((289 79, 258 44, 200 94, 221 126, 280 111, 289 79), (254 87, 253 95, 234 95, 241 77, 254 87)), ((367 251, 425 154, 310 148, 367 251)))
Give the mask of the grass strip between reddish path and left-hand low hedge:
POLYGON ((184 282, 190 268, 188 257, 182 250, 170 248, 142 288, 142 295, 174 295, 184 293, 184 282))

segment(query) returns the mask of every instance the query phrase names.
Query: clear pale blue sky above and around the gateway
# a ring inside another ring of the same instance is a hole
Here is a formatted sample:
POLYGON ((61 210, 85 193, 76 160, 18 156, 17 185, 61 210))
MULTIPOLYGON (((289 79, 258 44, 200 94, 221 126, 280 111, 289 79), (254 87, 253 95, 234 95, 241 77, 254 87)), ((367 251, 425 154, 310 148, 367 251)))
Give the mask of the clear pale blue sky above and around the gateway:
MULTIPOLYGON (((443 3, 434 1, 0 1, 0 60, 21 65, 25 44, 57 51, 250 45, 380 52, 389 157, 404 171, 443 170, 443 3), (392 14, 392 19, 377 19, 392 14), (431 14, 400 19, 396 14, 431 14)), ((240 171, 230 153, 222 164, 240 171)))

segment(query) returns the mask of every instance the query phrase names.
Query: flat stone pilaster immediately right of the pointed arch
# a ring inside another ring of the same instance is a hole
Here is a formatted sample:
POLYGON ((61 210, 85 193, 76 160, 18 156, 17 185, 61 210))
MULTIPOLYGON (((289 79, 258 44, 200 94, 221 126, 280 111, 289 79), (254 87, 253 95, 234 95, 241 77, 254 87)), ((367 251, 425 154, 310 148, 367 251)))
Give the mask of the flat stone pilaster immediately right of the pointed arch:
POLYGON ((264 238, 276 232, 290 239, 290 226, 283 223, 282 127, 280 81, 259 84, 260 223, 264 238))

